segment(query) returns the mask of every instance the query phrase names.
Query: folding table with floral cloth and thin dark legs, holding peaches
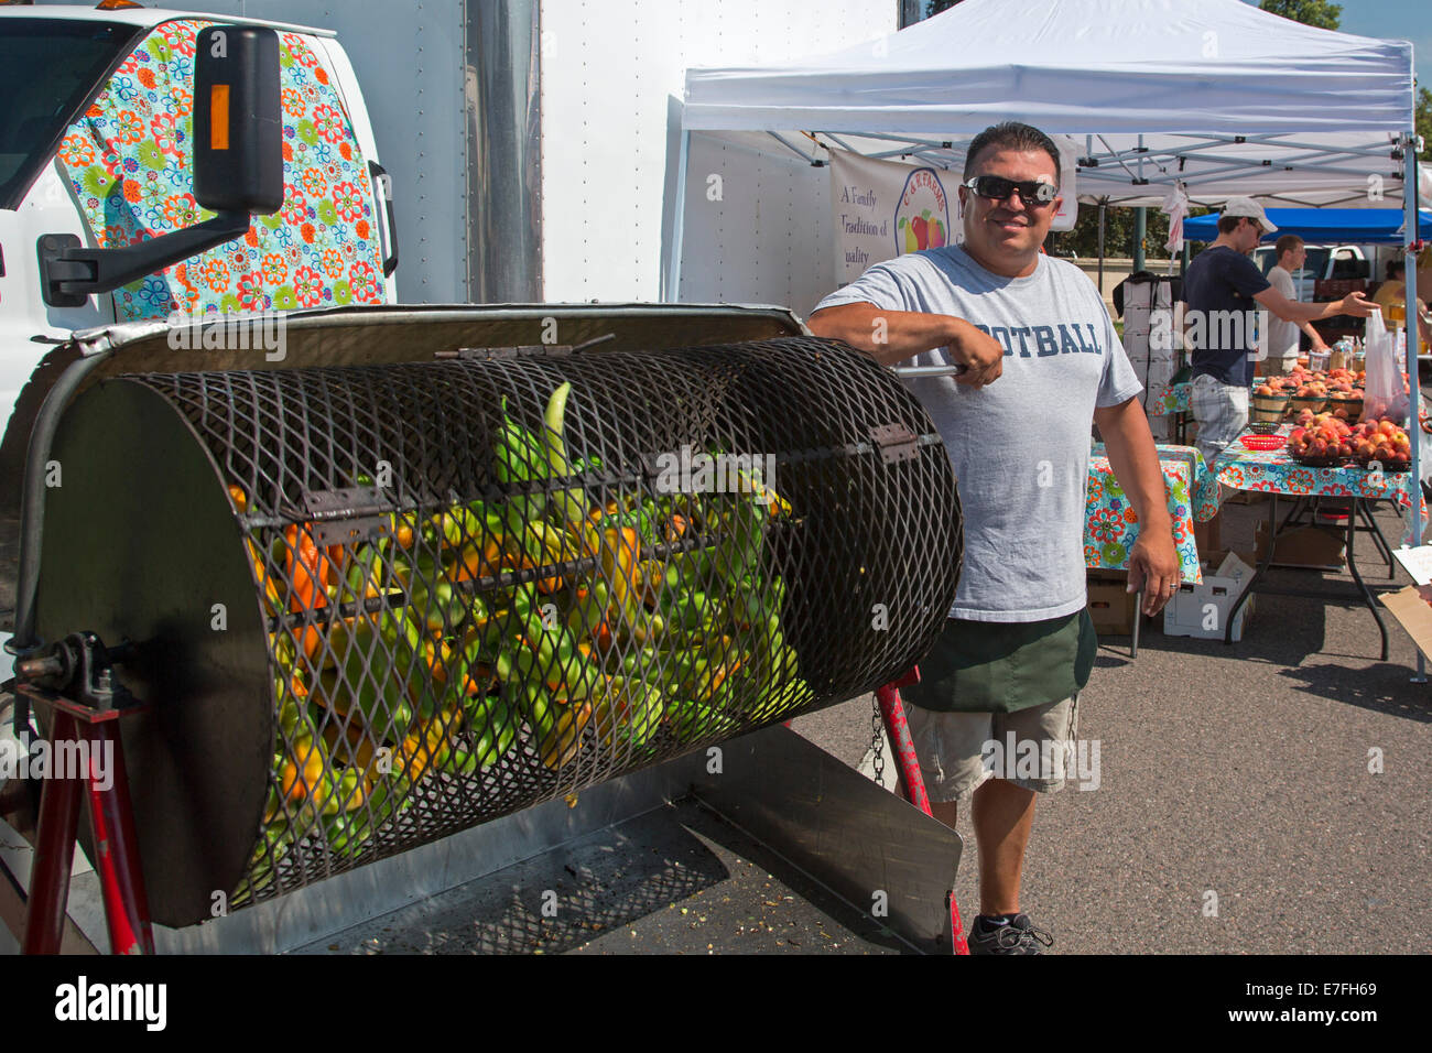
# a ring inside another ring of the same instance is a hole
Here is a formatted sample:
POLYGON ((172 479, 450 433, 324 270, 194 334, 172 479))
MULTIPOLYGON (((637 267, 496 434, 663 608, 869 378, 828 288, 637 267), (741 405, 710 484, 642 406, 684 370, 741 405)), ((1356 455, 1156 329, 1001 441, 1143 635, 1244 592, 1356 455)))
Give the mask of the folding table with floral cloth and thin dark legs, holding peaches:
MULTIPOLYGON (((1277 434, 1286 438, 1290 431, 1292 425, 1285 424, 1279 428, 1277 434)), ((1359 467, 1310 468, 1295 461, 1289 456, 1286 447, 1269 451, 1247 450, 1239 440, 1234 440, 1227 446, 1223 456, 1214 461, 1213 470, 1219 486, 1232 487, 1234 490, 1253 490, 1257 493, 1266 493, 1270 497, 1267 513, 1267 550, 1259 560, 1257 570, 1254 570, 1252 580, 1249 580, 1247 587, 1243 590, 1243 595, 1239 596, 1233 609, 1229 612, 1227 623, 1223 628, 1223 642, 1233 642, 1233 622, 1237 617, 1239 609, 1242 609, 1243 603, 1254 589, 1274 596, 1348 599, 1346 592, 1276 589, 1262 585, 1262 580, 1267 569, 1273 564, 1273 553, 1277 547, 1279 530, 1287 527, 1295 520, 1295 516, 1300 509, 1306 507, 1309 501, 1316 503, 1319 499, 1325 497, 1343 500, 1350 499, 1352 514, 1348 516, 1346 526, 1330 527, 1316 521, 1313 524, 1327 533, 1345 536, 1343 543, 1348 546, 1348 572, 1352 574, 1353 582, 1356 582, 1363 603, 1378 622, 1378 630, 1382 633, 1382 660, 1386 662, 1388 626, 1383 623, 1382 615, 1378 610, 1376 597, 1363 583, 1362 574, 1358 572, 1358 560, 1353 552, 1353 537, 1359 530, 1370 533, 1373 536, 1373 543, 1390 563, 1392 554, 1386 539, 1382 537, 1382 532, 1378 530, 1376 521, 1372 517, 1372 504, 1376 501, 1395 501, 1400 509, 1412 507, 1412 487, 1415 486, 1412 481, 1412 473, 1372 473, 1359 467), (1299 499, 1299 503, 1295 506, 1293 511, 1289 513, 1282 523, 1279 523, 1277 499, 1283 496, 1296 497, 1299 499), (1359 519, 1366 524, 1365 527, 1358 527, 1359 519)))

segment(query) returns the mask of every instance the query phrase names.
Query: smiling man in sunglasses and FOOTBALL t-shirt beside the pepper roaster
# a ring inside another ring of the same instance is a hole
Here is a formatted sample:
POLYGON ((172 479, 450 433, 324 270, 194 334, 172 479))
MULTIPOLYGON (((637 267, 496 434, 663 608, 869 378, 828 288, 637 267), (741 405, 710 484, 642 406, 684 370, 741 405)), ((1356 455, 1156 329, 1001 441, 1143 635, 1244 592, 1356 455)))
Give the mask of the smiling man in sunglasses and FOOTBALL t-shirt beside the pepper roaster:
POLYGON ((876 264, 811 315, 813 332, 885 365, 968 367, 954 380, 911 383, 955 468, 965 554, 945 632, 905 695, 935 818, 954 827, 958 802, 972 798, 975 953, 1031 954, 1053 941, 1021 913, 1020 875, 1035 792, 1060 789, 1063 765, 1018 778, 987 771, 982 755, 1010 734, 1055 762, 1074 746, 1097 646, 1084 567, 1091 418, 1143 527, 1128 566, 1144 612, 1179 587, 1138 381, 1093 282, 1040 252, 1060 206, 1058 176, 1058 150, 1042 132, 985 129, 959 188, 964 245, 876 264))

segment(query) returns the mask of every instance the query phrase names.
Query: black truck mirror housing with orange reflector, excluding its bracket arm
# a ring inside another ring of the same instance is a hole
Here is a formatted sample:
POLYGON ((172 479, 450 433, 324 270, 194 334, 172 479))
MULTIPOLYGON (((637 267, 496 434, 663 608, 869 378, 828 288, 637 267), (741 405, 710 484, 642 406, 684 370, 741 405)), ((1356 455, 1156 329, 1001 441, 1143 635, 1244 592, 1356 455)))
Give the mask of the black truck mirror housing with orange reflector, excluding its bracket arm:
POLYGON ((284 206, 278 33, 199 30, 193 70, 193 196, 215 212, 284 206))

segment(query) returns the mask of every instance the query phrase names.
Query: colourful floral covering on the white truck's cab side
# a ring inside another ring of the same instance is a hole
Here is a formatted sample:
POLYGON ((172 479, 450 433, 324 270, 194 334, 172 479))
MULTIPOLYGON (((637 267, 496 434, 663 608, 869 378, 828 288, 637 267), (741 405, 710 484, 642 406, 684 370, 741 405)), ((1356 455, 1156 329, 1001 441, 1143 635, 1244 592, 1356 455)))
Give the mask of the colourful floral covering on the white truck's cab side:
MULTIPOLYGON (((64 135, 60 163, 102 248, 213 216, 193 199, 190 152, 195 37, 209 24, 156 26, 64 135)), ((115 289, 119 321, 384 301, 372 181, 334 77, 295 33, 279 33, 279 76, 284 206, 245 238, 115 289)))

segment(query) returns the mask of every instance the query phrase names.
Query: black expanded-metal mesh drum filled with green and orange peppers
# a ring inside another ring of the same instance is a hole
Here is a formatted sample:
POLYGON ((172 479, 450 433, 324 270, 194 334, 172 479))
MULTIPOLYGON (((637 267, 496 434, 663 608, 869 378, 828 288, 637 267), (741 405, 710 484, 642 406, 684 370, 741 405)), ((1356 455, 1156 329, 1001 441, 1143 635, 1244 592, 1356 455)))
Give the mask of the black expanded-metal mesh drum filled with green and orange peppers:
POLYGON ((219 466, 268 619, 235 907, 871 691, 954 599, 945 450, 843 344, 132 380, 219 466))

